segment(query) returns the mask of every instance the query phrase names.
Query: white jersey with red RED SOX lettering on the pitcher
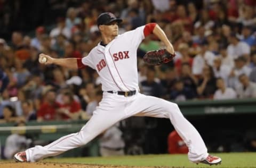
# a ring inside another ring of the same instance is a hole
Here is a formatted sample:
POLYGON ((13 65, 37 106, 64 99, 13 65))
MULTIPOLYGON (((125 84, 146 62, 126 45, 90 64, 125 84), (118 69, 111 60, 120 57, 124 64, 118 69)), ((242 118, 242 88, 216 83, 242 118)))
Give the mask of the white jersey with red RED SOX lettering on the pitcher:
POLYGON ((137 48, 145 38, 144 28, 118 35, 106 47, 99 43, 82 59, 84 65, 99 73, 103 91, 139 90, 137 48))

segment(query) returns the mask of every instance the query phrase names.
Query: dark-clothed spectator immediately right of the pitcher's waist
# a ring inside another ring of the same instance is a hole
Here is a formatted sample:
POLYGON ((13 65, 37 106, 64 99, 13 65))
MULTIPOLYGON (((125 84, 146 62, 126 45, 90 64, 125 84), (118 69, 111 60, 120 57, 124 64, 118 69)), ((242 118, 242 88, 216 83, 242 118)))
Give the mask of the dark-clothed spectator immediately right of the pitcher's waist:
POLYGON ((149 68, 147 70, 147 79, 141 81, 141 91, 145 95, 161 97, 163 95, 163 87, 155 81, 155 70, 149 68))

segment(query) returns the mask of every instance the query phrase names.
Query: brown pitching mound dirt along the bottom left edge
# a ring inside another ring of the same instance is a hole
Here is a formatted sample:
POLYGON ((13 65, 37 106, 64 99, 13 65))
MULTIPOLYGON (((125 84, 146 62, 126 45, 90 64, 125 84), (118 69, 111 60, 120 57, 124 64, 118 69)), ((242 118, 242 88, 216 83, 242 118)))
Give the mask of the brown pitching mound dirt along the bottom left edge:
MULTIPOLYGON (((1 168, 153 168, 138 166, 111 166, 111 165, 85 165, 85 164, 60 164, 60 163, 1 163, 1 168)), ((155 168, 164 168, 163 166, 155 166, 155 168)))

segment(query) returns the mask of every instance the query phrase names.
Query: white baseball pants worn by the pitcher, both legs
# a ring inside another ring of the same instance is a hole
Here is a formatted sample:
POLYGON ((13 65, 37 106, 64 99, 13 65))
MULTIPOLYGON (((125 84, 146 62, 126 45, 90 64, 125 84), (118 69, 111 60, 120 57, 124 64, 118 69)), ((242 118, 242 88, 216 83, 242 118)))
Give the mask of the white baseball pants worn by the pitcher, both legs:
POLYGON ((177 104, 140 93, 124 97, 104 92, 93 116, 79 132, 61 137, 46 146, 27 149, 27 161, 36 162, 85 145, 111 125, 133 115, 169 118, 188 146, 188 158, 191 162, 203 161, 208 156, 203 139, 182 115, 177 104))

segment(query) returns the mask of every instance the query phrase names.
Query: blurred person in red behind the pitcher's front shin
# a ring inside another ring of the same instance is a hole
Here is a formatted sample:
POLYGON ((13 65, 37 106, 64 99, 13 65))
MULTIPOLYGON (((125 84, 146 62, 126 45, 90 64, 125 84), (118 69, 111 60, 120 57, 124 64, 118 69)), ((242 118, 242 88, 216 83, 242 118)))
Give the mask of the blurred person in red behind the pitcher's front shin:
POLYGON ((168 136, 168 152, 169 154, 187 154, 188 147, 185 142, 180 138, 177 131, 173 130, 168 136))

